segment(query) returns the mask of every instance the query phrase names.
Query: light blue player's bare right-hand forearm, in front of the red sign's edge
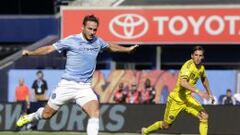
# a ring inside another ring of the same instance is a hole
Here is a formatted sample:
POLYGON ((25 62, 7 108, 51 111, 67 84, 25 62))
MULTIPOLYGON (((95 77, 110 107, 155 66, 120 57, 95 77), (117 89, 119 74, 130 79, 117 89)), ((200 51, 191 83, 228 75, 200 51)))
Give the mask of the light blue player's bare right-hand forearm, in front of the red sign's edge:
POLYGON ((112 52, 132 52, 134 51, 137 47, 139 47, 139 45, 133 45, 130 47, 124 47, 124 46, 120 46, 114 43, 109 43, 109 48, 112 52))

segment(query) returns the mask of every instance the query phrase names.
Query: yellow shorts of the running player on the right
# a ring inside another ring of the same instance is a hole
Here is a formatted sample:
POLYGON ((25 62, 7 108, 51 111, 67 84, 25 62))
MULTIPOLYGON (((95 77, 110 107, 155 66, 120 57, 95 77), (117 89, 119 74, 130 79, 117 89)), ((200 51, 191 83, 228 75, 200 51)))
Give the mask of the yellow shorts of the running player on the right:
POLYGON ((203 110, 204 108, 202 105, 192 96, 188 96, 185 102, 176 101, 172 97, 168 96, 163 120, 168 124, 172 124, 181 111, 186 111, 187 113, 197 117, 199 112, 203 110))

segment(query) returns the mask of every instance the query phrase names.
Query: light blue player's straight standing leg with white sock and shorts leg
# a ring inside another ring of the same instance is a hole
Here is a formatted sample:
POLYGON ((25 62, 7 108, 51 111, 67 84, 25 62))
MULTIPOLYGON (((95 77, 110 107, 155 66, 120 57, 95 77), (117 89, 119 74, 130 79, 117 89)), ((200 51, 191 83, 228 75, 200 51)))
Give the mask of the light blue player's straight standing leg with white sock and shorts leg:
POLYGON ((76 103, 88 114, 87 134, 97 135, 99 130, 99 101, 91 88, 79 91, 76 103))

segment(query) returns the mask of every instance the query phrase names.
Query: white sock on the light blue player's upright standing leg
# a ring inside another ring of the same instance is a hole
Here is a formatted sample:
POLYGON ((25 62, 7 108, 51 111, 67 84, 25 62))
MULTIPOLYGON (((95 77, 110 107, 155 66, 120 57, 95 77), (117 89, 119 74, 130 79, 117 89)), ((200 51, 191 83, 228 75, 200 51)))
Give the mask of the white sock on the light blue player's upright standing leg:
POLYGON ((99 130, 99 119, 90 118, 87 124, 87 135, 97 135, 99 130))

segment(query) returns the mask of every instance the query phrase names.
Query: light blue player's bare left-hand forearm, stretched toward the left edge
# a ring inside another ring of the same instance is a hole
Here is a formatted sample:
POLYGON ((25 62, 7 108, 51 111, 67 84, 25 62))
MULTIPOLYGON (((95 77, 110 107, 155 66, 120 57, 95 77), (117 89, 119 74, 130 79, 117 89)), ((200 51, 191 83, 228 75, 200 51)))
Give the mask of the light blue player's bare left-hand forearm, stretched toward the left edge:
POLYGON ((22 55, 23 56, 46 55, 46 54, 49 54, 49 53, 51 53, 55 50, 56 50, 56 48, 54 46, 48 45, 48 46, 40 47, 40 48, 38 48, 36 50, 33 50, 33 51, 23 50, 22 55))

